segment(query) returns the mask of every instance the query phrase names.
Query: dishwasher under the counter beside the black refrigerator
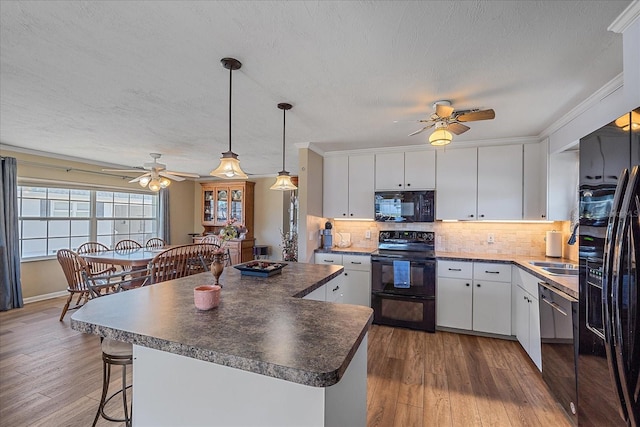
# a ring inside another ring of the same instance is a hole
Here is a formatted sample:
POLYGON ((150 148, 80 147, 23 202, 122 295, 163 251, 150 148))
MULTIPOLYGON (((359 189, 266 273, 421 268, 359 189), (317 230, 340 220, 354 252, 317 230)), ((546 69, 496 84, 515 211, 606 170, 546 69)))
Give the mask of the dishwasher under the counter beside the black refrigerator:
POLYGON ((578 300, 547 283, 538 283, 542 378, 577 424, 576 382, 578 300))

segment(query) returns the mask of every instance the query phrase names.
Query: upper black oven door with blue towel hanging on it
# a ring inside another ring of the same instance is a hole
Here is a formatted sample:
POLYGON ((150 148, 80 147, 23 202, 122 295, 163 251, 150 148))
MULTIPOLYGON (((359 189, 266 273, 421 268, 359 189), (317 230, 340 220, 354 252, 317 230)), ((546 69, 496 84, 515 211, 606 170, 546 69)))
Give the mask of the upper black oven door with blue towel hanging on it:
MULTIPOLYGON (((401 261, 402 259, 395 258, 401 261)), ((371 290, 388 295, 435 298, 436 260, 409 261, 409 283, 395 284, 394 259, 371 259, 371 290)))

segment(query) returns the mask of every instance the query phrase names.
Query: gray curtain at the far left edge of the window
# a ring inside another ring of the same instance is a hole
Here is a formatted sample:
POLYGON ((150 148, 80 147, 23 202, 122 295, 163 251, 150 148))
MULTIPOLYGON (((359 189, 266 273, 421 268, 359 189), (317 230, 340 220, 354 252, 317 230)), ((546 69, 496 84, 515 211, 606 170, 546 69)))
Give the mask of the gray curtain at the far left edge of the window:
POLYGON ((18 167, 13 157, 0 157, 0 310, 22 307, 18 238, 18 167))

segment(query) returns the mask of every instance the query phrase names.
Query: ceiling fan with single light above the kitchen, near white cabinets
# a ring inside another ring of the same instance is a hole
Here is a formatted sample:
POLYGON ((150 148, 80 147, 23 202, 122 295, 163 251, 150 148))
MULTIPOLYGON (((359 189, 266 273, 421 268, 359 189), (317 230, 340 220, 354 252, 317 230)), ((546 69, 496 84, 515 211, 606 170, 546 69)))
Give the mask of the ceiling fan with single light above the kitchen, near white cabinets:
MULTIPOLYGON (((418 123, 425 123, 425 126, 422 129, 409 134, 409 136, 417 135, 432 127, 436 128, 436 131, 433 133, 434 135, 439 132, 442 133, 443 131, 453 132, 456 135, 460 135, 470 129, 469 126, 466 126, 461 122, 491 120, 496 116, 495 111, 493 111, 492 109, 480 110, 478 108, 474 108, 470 110, 455 111, 451 106, 450 101, 436 101, 433 104, 433 109, 435 111, 428 119, 418 120, 418 123)), ((449 134, 449 136, 450 135, 451 134, 449 134)), ((429 140, 433 144, 433 141, 431 141, 431 139, 432 138, 430 137, 429 140)), ((448 139, 446 144, 448 144, 449 142, 451 142, 451 138, 448 139)), ((440 143, 434 145, 444 144, 440 143)))

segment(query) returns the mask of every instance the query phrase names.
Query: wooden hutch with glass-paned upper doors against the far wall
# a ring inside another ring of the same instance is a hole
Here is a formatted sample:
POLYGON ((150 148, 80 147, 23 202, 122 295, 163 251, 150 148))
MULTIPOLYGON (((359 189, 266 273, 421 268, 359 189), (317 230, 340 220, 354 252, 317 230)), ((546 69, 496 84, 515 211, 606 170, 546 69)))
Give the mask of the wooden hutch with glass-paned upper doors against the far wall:
MULTIPOLYGON (((204 227, 203 235, 218 234, 230 219, 244 224, 247 233, 244 239, 231 239, 227 247, 231 253, 231 263, 251 261, 253 259, 253 198, 255 183, 251 181, 203 182, 202 208, 200 218, 204 227)), ((203 236, 193 238, 194 243, 203 236)))

